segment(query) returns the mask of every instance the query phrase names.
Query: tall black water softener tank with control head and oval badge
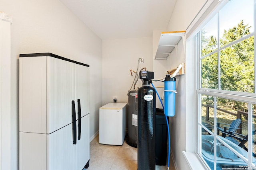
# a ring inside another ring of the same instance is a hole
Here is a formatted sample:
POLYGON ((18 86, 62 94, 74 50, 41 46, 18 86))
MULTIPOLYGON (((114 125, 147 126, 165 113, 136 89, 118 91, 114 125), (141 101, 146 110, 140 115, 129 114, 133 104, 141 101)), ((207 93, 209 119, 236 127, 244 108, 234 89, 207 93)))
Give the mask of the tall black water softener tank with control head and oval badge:
POLYGON ((156 92, 150 87, 154 72, 140 71, 138 90, 138 170, 156 169, 155 121, 156 92))

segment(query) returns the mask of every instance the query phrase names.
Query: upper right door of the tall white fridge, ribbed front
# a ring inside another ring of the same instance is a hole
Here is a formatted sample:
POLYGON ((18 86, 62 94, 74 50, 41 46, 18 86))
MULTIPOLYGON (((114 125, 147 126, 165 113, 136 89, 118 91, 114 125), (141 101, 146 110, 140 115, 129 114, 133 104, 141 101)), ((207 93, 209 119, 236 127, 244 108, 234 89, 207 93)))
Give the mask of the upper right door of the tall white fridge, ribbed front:
MULTIPOLYGON (((76 104, 80 99, 81 116, 87 115, 89 110, 89 67, 75 64, 76 67, 76 104)), ((78 108, 78 107, 76 107, 78 108)))

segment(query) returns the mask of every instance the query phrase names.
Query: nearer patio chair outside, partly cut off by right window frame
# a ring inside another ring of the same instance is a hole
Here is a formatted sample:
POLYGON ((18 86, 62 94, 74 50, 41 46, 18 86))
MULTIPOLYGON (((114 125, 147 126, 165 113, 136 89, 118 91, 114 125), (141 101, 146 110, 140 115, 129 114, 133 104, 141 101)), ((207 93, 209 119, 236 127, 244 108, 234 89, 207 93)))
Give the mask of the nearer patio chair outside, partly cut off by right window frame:
MULTIPOLYGON (((252 131, 252 135, 255 135, 256 130, 252 131)), ((233 142, 234 144, 238 145, 239 147, 243 148, 248 152, 245 144, 248 141, 248 135, 242 135, 240 133, 234 132, 234 135, 230 135, 230 133, 226 133, 225 131, 222 132, 222 137, 228 139, 229 141, 233 142), (228 136, 226 136, 228 135, 228 136)), ((253 144, 256 144, 255 141, 252 141, 253 144)), ((252 152, 252 156, 256 157, 256 154, 252 152)))

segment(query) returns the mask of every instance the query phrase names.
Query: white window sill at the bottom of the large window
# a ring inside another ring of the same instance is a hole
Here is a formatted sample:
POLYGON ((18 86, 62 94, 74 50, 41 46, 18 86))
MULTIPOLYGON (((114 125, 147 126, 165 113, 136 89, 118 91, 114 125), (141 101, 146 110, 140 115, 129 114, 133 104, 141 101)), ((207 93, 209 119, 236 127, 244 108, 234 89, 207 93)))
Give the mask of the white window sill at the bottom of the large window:
POLYGON ((194 152, 182 151, 191 170, 207 170, 204 162, 194 152))

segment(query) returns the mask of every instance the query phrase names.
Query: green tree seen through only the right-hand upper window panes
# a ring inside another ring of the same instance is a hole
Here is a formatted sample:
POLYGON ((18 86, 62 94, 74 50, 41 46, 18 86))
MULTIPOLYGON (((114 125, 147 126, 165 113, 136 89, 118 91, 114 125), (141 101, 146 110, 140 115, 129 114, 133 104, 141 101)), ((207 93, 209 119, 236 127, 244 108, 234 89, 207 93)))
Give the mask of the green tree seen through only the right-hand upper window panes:
MULTIPOLYGON (((221 47, 250 33, 241 21, 237 27, 224 30, 221 47)), ((240 41, 220 52, 221 89, 254 93, 254 38, 240 41)))

